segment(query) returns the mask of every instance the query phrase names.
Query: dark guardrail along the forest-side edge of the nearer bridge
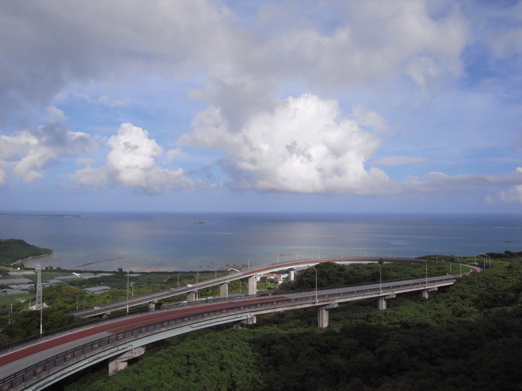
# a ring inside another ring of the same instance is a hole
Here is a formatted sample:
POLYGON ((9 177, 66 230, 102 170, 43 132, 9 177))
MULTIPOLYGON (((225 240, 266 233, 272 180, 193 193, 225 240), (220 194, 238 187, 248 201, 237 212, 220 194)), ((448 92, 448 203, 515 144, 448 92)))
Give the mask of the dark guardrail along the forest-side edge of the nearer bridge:
MULTIPOLYGON (((446 282, 449 280, 456 280, 457 277, 447 277, 447 278, 439 278, 437 280, 432 280, 432 284, 428 285, 436 285, 441 282, 446 282)), ((424 281, 422 282, 411 282, 406 284, 398 284, 386 287, 386 291, 393 291, 400 288, 406 288, 406 287, 413 287, 413 286, 426 286, 426 283, 424 281)), ((331 288, 330 288, 331 289, 331 288)), ((376 292, 382 293, 384 290, 381 290, 379 287, 375 288, 365 288, 365 289, 358 289, 353 291, 346 291, 346 292, 336 292, 331 294, 318 294, 317 299, 331 299, 331 298, 342 298, 342 297, 352 297, 352 296, 362 296, 364 294, 375 294, 376 292)), ((256 295, 257 296, 257 295, 256 295)), ((0 391, 8 391, 13 387, 16 387, 17 385, 20 385, 22 383, 25 383, 35 376, 38 376, 39 374, 49 371, 53 368, 56 368, 56 366, 65 363, 68 360, 74 360, 75 358, 80 358, 81 356, 84 356, 90 352, 92 352, 95 349, 100 349, 104 346, 108 346, 118 340, 131 338, 135 336, 139 336, 141 334, 149 333, 151 331, 155 331, 156 329, 161 328, 174 328, 176 325, 180 325, 182 323, 189 323, 192 321, 196 321, 198 319, 203 318, 209 318, 210 316, 215 315, 221 315, 223 313, 235 313, 235 312, 244 312, 245 310, 248 311, 255 311, 256 309, 259 310, 259 308, 268 308, 268 307, 281 307, 284 306, 284 304, 293 304, 296 302, 310 302, 315 301, 316 296, 315 294, 305 297, 296 297, 296 298, 284 298, 277 301, 271 301, 271 302, 261 302, 261 303, 238 303, 237 306, 232 308, 226 308, 226 309, 218 309, 218 310, 209 310, 209 311, 202 311, 197 314, 193 315, 180 315, 177 317, 173 317, 169 320, 162 320, 159 322, 153 322, 145 326, 138 326, 133 329, 116 333, 110 336, 106 336, 94 341, 91 341, 87 344, 81 345, 79 347, 76 347, 74 349, 67 350, 62 353, 58 353, 57 355, 48 358, 46 360, 43 360, 37 364, 33 364, 29 366, 28 368, 17 372, 13 375, 10 375, 2 380, 0 380, 0 391)), ((242 298, 244 300, 244 298, 242 298)), ((241 301, 241 300, 239 300, 241 301)))

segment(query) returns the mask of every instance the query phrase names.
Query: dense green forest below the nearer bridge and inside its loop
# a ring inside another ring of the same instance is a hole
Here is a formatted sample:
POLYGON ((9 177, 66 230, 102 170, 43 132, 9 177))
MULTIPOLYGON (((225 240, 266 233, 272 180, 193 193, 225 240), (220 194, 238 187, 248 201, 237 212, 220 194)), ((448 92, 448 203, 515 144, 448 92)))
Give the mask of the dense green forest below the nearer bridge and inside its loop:
MULTIPOLYGON (((429 299, 418 292, 398 295, 387 310, 378 310, 375 299, 340 304, 330 310, 328 328, 317 328, 316 310, 304 309, 259 316, 248 328, 204 329, 148 346, 146 355, 113 376, 101 363, 53 389, 520 390, 522 252, 488 255, 485 271, 429 299)), ((382 265, 386 279, 416 267, 422 275, 424 264, 382 265)), ((379 278, 375 264, 325 263, 316 270, 321 286, 379 278)), ((314 286, 309 268, 282 289, 314 286)))

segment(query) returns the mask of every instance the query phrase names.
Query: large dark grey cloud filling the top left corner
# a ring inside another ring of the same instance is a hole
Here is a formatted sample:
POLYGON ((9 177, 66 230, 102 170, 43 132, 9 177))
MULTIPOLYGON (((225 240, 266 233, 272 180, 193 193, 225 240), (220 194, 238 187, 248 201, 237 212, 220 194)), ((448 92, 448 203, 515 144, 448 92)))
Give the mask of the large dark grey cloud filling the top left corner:
POLYGON ((226 71, 236 40, 227 15, 207 0, 5 4, 0 57, 9 62, 0 69, 0 120, 66 96, 73 83, 140 72, 186 77, 209 64, 226 71))

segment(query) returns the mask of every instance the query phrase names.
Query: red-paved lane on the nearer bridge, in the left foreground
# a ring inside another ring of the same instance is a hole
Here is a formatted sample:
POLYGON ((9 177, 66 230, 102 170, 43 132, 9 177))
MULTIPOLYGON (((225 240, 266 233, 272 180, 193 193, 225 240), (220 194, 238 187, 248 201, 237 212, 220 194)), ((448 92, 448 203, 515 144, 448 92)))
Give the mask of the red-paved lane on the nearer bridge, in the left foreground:
POLYGON ((92 335, 100 334, 100 333, 111 333, 117 334, 123 331, 127 331, 136 327, 147 326, 151 323, 157 323, 162 320, 172 320, 179 317, 184 317, 188 315, 195 315, 202 312, 214 311, 214 310, 222 310, 227 308, 237 308, 241 306, 248 306, 254 303, 260 302, 274 302, 279 300, 284 300, 284 297, 271 297, 271 298, 262 298, 262 299, 252 299, 252 300, 241 300, 241 301, 227 301, 216 304, 206 304, 203 306, 191 307, 191 308, 179 308, 175 310, 168 311, 155 311, 146 315, 130 317, 127 319, 123 319, 116 322, 101 324, 99 326, 94 326, 91 328, 79 330, 77 332, 72 332, 66 335, 62 335, 60 337, 56 337, 50 340, 42 341, 41 343, 37 343, 26 348, 19 349, 17 351, 8 353, 7 355, 0 356, 0 369, 2 366, 6 364, 13 363, 22 358, 32 356, 36 353, 55 348, 60 345, 67 344, 69 342, 90 337, 92 335))

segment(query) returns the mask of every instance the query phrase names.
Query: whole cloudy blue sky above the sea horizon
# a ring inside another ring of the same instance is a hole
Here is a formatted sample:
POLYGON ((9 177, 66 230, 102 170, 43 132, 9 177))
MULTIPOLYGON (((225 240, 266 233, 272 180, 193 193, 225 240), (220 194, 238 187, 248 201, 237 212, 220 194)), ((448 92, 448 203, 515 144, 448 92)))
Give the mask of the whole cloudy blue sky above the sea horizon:
POLYGON ((0 212, 522 213, 522 2, 5 0, 0 212))

